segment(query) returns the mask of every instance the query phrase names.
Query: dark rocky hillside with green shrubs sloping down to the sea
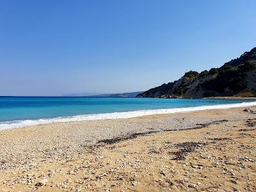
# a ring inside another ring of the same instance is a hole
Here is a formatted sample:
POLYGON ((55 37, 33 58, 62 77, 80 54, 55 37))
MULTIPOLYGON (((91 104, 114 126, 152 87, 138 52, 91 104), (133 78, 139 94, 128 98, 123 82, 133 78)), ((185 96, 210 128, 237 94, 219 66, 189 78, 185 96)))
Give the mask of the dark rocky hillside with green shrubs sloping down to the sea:
POLYGON ((256 47, 220 68, 189 71, 179 80, 162 84, 137 97, 202 98, 216 96, 256 96, 256 47))

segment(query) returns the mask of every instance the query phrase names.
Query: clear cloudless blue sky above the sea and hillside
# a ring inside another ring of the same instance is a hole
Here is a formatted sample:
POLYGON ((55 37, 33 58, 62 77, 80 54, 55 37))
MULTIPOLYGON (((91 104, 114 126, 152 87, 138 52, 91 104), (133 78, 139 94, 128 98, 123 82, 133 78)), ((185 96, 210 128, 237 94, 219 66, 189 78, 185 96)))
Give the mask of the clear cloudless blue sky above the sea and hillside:
POLYGON ((0 95, 148 90, 256 47, 256 1, 0 1, 0 95))

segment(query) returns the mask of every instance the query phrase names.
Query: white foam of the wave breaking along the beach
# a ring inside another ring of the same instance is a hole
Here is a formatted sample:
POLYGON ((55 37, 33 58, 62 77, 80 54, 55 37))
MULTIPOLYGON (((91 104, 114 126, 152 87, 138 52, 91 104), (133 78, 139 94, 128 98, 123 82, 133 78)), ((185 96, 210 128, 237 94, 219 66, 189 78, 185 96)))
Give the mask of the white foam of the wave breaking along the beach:
POLYGON ((56 122, 74 122, 74 121, 84 121, 84 120, 132 118, 136 116, 145 116, 145 115, 188 113, 188 112, 202 111, 207 109, 229 109, 229 108, 250 107, 250 106, 256 106, 256 102, 220 104, 220 105, 214 105, 214 106, 196 106, 196 107, 188 107, 188 108, 150 109, 150 110, 128 111, 128 112, 118 112, 118 113, 76 115, 76 116, 65 116, 65 117, 56 117, 56 118, 44 118, 44 119, 42 118, 38 120, 15 120, 10 122, 0 122, 0 130, 17 128, 17 127, 25 127, 30 125, 50 124, 50 123, 56 123, 56 122))

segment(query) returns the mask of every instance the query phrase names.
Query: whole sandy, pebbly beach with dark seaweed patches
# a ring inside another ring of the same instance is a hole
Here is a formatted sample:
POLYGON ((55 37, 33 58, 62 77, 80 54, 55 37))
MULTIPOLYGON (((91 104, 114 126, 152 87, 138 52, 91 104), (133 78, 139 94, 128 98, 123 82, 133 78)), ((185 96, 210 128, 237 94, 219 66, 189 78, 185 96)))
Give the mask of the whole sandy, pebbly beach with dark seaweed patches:
POLYGON ((0 189, 256 191, 255 131, 244 108, 3 130, 0 189))

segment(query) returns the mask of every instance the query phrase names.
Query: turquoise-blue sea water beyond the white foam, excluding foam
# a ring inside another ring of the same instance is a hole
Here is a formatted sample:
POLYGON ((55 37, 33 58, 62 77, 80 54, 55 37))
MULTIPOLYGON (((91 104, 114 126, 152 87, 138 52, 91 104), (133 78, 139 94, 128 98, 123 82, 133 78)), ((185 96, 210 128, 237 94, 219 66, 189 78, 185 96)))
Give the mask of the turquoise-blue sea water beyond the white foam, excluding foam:
POLYGON ((0 122, 148 109, 234 104, 248 100, 106 97, 0 97, 0 122))

